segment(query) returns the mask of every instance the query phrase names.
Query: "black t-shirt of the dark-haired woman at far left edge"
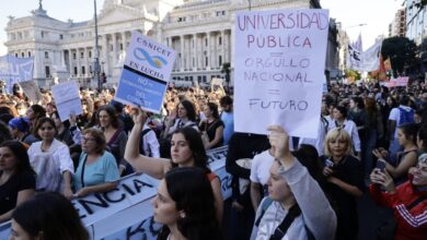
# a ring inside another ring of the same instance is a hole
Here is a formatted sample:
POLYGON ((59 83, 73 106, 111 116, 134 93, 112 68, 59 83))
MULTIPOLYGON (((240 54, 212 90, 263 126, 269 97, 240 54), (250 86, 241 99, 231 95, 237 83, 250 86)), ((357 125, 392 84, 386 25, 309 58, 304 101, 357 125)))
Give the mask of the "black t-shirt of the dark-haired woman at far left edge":
MULTIPOLYGON (((2 172, 0 172, 0 176, 2 172)), ((16 206, 18 193, 26 189, 35 189, 35 176, 31 171, 21 171, 13 175, 4 184, 0 185, 0 215, 16 206)))

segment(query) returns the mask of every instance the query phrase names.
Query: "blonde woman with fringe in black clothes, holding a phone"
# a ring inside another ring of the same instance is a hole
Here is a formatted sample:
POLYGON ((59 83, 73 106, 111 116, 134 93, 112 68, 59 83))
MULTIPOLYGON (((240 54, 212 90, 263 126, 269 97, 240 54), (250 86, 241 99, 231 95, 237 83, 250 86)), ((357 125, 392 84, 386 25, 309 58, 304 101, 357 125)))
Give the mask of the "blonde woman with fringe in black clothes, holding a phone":
POLYGON ((353 156, 351 137, 343 128, 326 134, 323 175, 325 192, 335 203, 337 231, 335 239, 357 239, 359 225, 356 199, 365 191, 362 165, 353 156))

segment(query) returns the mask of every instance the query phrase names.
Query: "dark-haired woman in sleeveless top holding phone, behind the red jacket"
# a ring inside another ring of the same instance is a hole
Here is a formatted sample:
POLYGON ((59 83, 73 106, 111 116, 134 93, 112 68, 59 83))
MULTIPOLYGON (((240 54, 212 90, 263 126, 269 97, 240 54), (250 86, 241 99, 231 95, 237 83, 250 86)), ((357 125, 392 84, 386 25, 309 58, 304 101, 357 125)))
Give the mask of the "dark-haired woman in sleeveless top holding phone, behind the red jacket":
POLYGON ((418 147, 416 145, 418 125, 415 123, 405 123, 397 128, 397 141, 403 147, 403 152, 397 153, 395 165, 384 160, 388 156, 386 151, 373 149, 372 154, 378 158, 380 167, 385 165, 388 173, 393 178, 395 184, 401 184, 407 180, 407 172, 411 167, 417 163, 418 147))

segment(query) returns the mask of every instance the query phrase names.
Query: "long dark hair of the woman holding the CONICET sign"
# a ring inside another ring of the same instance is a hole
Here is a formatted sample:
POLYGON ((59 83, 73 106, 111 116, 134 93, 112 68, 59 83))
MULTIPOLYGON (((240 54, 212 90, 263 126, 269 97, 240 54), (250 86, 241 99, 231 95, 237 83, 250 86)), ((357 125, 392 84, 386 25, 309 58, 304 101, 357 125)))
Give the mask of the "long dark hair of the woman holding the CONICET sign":
MULTIPOLYGON (((178 133, 183 134, 184 139, 188 142, 189 149, 193 152, 194 167, 201 168, 205 172, 210 172, 210 169, 207 167, 208 156, 206 155, 200 133, 192 127, 177 129, 173 134, 178 133)), ((177 165, 172 163, 172 167, 177 167, 177 165)))

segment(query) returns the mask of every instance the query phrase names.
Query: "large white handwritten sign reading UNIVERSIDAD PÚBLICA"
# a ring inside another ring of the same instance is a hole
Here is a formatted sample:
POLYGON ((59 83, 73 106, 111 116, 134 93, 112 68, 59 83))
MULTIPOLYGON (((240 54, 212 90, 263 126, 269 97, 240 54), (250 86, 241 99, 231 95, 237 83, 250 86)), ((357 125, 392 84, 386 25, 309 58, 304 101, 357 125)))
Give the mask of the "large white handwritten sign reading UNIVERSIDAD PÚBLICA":
POLYGON ((236 13, 235 131, 267 134, 278 124, 292 136, 316 137, 327 31, 327 10, 236 13))

